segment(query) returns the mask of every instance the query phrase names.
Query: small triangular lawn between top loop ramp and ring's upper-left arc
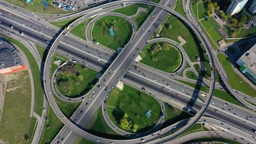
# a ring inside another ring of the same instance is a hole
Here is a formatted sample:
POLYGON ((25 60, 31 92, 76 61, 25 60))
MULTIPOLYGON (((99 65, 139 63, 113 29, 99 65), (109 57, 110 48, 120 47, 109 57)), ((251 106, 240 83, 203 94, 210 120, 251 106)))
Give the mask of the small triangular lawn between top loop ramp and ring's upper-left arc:
POLYGON ((77 37, 86 40, 85 38, 85 28, 88 25, 89 21, 84 21, 80 23, 79 25, 75 26, 71 29, 70 33, 76 35, 77 37))

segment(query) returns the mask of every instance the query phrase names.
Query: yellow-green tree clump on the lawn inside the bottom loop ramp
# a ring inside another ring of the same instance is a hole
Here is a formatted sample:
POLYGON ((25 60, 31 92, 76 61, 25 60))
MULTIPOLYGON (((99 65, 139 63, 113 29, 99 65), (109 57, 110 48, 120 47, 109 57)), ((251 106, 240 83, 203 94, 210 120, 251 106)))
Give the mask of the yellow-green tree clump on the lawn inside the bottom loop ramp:
POLYGON ((120 127, 127 131, 133 131, 134 133, 138 129, 137 124, 132 124, 131 119, 128 117, 127 113, 124 113, 123 118, 120 119, 120 127))

